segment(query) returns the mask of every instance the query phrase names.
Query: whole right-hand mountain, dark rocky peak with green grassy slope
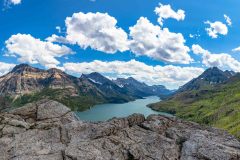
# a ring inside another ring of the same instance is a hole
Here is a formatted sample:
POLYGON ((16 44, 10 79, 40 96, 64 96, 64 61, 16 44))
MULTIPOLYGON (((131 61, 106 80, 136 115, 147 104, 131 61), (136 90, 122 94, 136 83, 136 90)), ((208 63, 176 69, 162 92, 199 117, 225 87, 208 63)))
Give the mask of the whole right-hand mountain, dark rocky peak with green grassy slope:
POLYGON ((184 85, 185 90, 181 88, 167 100, 149 107, 223 128, 240 138, 240 74, 210 68, 190 82, 184 85))

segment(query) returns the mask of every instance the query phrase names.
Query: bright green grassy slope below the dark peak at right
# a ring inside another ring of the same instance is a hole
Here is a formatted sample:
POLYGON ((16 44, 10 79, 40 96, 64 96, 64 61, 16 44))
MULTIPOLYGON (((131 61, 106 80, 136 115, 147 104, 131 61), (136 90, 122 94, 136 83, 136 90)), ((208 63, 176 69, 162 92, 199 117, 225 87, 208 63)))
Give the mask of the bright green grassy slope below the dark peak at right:
POLYGON ((150 105, 154 110, 227 130, 240 138, 240 82, 180 93, 150 105))

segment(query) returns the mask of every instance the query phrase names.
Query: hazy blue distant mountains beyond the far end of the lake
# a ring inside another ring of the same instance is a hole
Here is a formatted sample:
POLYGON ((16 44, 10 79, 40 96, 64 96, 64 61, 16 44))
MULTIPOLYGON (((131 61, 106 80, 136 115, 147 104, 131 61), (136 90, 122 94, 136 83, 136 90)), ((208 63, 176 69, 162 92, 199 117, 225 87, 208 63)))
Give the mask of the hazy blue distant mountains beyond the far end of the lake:
POLYGON ((145 83, 139 82, 136 79, 129 77, 125 78, 117 78, 114 82, 122 87, 126 88, 131 95, 136 96, 163 96, 172 93, 172 91, 168 90, 165 86, 162 85, 153 85, 148 86, 145 83))

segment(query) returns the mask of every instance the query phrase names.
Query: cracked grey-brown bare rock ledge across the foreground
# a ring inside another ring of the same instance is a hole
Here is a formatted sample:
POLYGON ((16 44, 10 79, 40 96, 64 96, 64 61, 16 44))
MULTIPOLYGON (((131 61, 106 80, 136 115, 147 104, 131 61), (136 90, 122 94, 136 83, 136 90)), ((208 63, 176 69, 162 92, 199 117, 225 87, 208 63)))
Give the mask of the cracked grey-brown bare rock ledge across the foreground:
POLYGON ((157 115, 82 122, 64 105, 43 100, 0 115, 0 160, 35 159, 239 160, 240 142, 157 115))

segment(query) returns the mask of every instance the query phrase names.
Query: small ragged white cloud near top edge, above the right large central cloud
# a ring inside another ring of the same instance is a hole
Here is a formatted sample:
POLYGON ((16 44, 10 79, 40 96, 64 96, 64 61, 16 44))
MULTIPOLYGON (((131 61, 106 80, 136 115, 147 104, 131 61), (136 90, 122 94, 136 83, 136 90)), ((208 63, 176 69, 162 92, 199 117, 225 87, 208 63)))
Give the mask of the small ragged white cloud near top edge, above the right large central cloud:
POLYGON ((159 16, 158 23, 162 26, 164 19, 173 18, 178 21, 185 19, 185 11, 179 9, 174 11, 170 5, 159 4, 159 7, 155 8, 155 13, 159 16))

